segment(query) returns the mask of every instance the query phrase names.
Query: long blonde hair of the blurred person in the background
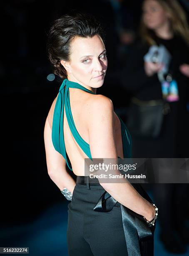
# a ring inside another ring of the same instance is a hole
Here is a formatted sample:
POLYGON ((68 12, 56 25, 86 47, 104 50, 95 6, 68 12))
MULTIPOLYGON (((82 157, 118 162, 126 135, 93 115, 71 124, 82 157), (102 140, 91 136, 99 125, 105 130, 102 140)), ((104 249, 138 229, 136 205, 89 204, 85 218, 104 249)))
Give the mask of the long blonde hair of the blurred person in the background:
MULTIPOLYGON (((189 46, 189 26, 187 23, 187 16, 182 6, 177 0, 155 0, 162 8, 169 14, 169 20, 172 31, 175 35, 181 36, 189 46)), ((156 44, 150 30, 144 24, 143 18, 140 23, 139 33, 143 39, 149 45, 156 44)))

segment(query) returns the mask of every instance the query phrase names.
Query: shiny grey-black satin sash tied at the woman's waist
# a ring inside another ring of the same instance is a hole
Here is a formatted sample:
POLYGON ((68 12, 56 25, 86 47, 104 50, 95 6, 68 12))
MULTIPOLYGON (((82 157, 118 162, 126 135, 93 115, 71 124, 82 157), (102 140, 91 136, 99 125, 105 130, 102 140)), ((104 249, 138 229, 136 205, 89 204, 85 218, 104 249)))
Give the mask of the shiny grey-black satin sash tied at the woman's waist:
MULTIPOLYGON (((152 203, 151 198, 140 184, 132 184, 132 186, 142 197, 152 203)), ((105 191, 95 205, 94 211, 109 212, 116 203, 117 201, 105 191)), ((122 204, 120 207, 128 256, 153 256, 152 246, 148 246, 148 244, 154 243, 155 225, 147 225, 142 215, 133 212, 122 204)))

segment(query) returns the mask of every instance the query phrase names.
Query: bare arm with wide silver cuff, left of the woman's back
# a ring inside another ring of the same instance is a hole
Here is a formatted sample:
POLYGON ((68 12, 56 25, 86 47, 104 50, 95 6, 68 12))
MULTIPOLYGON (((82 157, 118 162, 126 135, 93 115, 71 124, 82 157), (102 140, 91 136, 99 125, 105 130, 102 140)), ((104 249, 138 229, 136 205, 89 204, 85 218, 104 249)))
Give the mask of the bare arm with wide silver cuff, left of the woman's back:
POLYGON ((66 187, 71 193, 73 193, 75 187, 75 181, 66 171, 66 161, 63 156, 57 152, 52 144, 51 137, 52 130, 48 118, 45 122, 44 128, 44 141, 45 141, 45 153, 47 161, 47 172, 52 181, 62 190, 66 187))

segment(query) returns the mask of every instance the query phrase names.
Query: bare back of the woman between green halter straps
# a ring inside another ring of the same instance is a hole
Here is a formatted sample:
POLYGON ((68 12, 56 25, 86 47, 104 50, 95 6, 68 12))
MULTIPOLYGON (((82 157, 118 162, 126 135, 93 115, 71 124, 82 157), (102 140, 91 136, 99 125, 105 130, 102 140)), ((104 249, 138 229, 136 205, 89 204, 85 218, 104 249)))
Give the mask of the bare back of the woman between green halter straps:
MULTIPOLYGON (((72 111, 73 120, 75 127, 77 128, 78 133, 83 138, 84 141, 89 143, 89 132, 87 129, 87 118, 90 113, 90 104, 95 100, 95 97, 99 95, 93 95, 88 92, 78 90, 75 88, 69 88, 70 91, 70 107, 72 111)), ((53 113, 55 109, 57 97, 52 102, 52 106, 48 113, 48 121, 50 128, 52 130, 52 120, 53 113)), ((121 124, 116 113, 114 113, 114 134, 115 134, 115 143, 117 148, 117 156, 123 158, 123 148, 122 148, 122 134, 121 134, 121 124)), ((64 139, 65 139, 65 148, 67 155, 72 164, 72 170, 77 176, 85 176, 85 158, 88 156, 82 151, 80 146, 75 141, 70 127, 67 123, 67 118, 64 110, 64 139)), ((103 156, 102 156, 103 157, 103 156)))

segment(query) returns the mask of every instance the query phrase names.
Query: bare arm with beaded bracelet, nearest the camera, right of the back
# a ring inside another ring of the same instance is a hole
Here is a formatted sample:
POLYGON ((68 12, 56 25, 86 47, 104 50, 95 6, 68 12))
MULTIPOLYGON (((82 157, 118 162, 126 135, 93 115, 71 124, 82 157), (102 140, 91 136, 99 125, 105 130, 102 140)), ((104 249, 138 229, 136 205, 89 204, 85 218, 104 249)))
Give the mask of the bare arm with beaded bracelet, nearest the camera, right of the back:
MULTIPOLYGON (((114 140, 114 109, 109 98, 103 95, 96 96, 94 102, 90 104, 87 125, 92 158, 117 159, 114 140)), ((119 170, 115 170, 114 174, 119 175, 119 170)), ((122 179, 123 183, 99 182, 115 200, 144 216, 147 220, 152 220, 155 216, 154 206, 144 199, 127 179, 122 179), (127 182, 125 183, 125 181, 127 182)))

